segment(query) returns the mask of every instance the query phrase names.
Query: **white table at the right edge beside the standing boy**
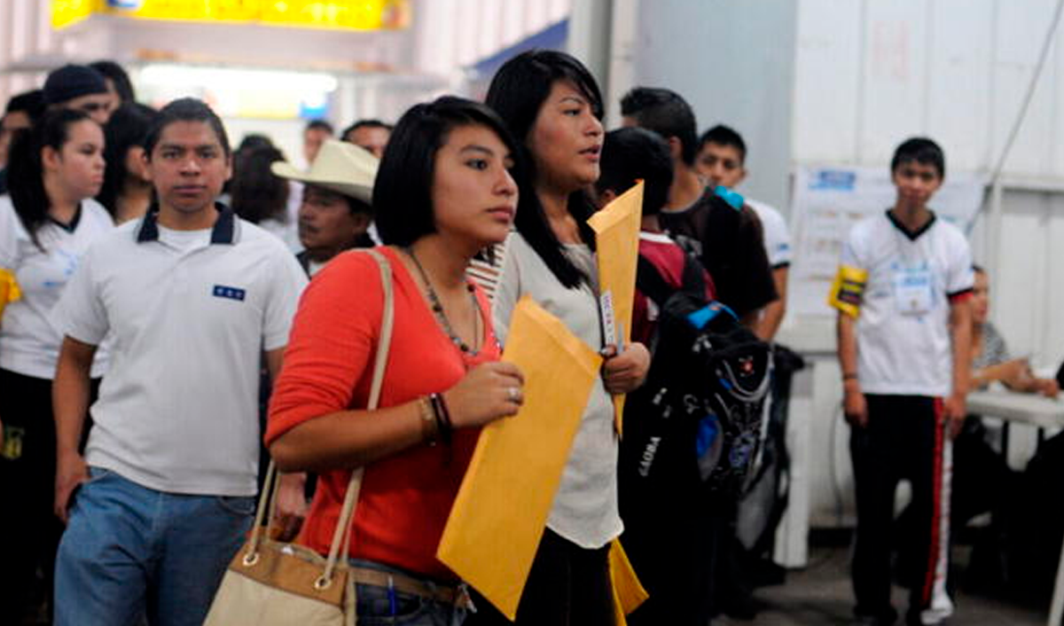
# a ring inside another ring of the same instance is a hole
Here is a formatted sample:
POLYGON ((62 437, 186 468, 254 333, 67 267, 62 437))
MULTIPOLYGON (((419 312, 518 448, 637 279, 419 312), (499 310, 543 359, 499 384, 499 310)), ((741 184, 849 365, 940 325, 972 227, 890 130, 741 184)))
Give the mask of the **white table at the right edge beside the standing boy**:
MULTIPOLYGON (((1038 428, 1064 428, 1064 401, 1035 394, 1009 391, 982 391, 968 394, 969 413, 1030 424, 1038 428)), ((1064 549, 1057 565, 1057 586, 1049 607, 1049 626, 1061 626, 1064 619, 1064 549)))

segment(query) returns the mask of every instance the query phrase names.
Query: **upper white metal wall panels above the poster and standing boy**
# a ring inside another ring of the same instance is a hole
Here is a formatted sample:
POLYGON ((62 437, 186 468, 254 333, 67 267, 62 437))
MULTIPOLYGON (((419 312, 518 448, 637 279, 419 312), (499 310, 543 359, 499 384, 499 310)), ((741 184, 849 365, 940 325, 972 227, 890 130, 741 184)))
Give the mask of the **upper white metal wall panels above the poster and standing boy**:
MULTIPOLYGON (((794 159, 876 165, 927 134, 948 166, 990 169, 1054 0, 799 0, 794 159)), ((1064 178, 1064 31, 1005 171, 1064 178)))

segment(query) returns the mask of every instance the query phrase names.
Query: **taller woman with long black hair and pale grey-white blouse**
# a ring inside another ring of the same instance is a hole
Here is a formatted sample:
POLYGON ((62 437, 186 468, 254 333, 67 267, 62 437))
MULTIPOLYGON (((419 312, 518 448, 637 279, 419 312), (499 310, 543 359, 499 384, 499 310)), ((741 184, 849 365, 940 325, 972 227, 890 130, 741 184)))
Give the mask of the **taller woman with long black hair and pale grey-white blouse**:
MULTIPOLYGON (((496 330, 504 337, 517 300, 531 295, 606 356, 562 474, 517 624, 612 625, 609 550, 622 530, 612 394, 637 388, 650 356, 637 343, 618 353, 602 335, 595 235, 587 225, 594 205, 584 192, 599 177, 602 97, 591 72, 572 56, 531 51, 499 69, 486 103, 519 138, 530 163, 516 232, 502 259, 493 309, 496 330)), ((509 623, 486 603, 478 608, 470 620, 476 624, 509 623)))

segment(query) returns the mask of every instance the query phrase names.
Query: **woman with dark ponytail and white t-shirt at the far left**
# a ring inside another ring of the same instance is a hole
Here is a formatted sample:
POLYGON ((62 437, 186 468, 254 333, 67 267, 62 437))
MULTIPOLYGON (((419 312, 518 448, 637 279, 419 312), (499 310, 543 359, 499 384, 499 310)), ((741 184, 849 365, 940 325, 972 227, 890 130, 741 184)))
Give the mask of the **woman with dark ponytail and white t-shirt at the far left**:
MULTIPOLYGON (((60 110, 12 145, 0 196, 0 607, 17 623, 37 566, 50 589, 62 533, 52 514, 55 423, 51 384, 62 335, 49 312, 88 246, 114 228, 93 200, 103 182, 103 131, 60 110), (6 307, 3 307, 6 304, 6 307)), ((98 380, 104 360, 94 366, 98 380)))

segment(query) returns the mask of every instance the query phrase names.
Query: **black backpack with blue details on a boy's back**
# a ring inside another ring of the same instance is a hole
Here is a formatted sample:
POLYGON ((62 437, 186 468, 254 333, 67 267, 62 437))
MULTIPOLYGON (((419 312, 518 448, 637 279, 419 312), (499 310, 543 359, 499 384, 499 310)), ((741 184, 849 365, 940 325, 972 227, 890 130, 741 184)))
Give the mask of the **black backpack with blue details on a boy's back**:
POLYGON ((708 302, 689 256, 677 290, 644 257, 636 286, 659 308, 647 380, 629 394, 620 481, 630 497, 680 489, 742 493, 754 474, 769 405, 771 347, 726 306, 708 302))

